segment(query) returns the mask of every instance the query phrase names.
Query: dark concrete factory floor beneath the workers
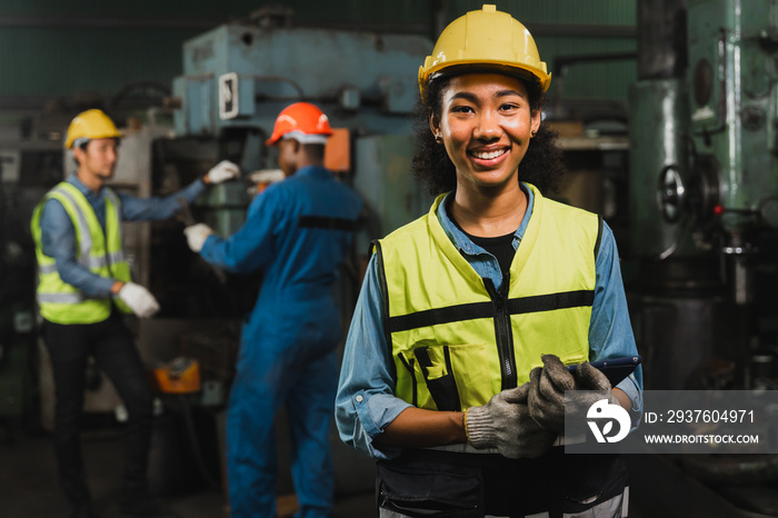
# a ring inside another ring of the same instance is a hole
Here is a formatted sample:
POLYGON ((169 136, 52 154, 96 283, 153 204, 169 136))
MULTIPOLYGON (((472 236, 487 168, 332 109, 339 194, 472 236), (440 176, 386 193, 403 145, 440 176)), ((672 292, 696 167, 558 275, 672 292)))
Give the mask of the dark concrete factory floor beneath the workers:
MULTIPOLYGON (((181 518, 226 518, 227 506, 221 491, 212 489, 202 478, 194 479, 188 487, 181 484, 168 485, 166 489, 159 482, 160 458, 154 452, 159 448, 158 438, 152 446, 150 478, 161 495, 159 500, 176 510, 181 518), (154 475, 157 474, 157 475, 154 475), (154 482, 157 480, 157 482, 154 482), (176 489, 170 489, 176 487, 176 489)), ((87 465, 88 482, 92 490, 94 508, 99 518, 112 518, 118 514, 117 500, 120 491, 121 467, 123 460, 122 431, 116 426, 90 427, 83 434, 83 454, 87 465)), ((372 518, 376 517, 372 494, 372 462, 349 448, 335 446, 336 459, 336 506, 332 518, 372 518), (346 481, 346 484, 345 484, 346 481)), ((279 451, 279 462, 285 462, 283 451, 279 451)), ((162 459, 169 462, 169 458, 162 459)), ((166 472, 173 477, 186 476, 189 467, 178 467, 169 462, 166 472)), ((281 474, 279 490, 291 492, 291 482, 281 474)), ((179 480, 180 482, 180 480, 179 480)), ((646 487, 634 487, 630 505, 631 518, 654 518, 654 512, 645 510, 638 498, 650 495, 646 487)), ((292 504, 293 506, 293 504, 292 504)), ((281 498, 279 510, 289 509, 289 498, 281 498)), ((64 499, 57 484, 53 448, 51 437, 44 432, 24 434, 3 428, 0 422, 0 517, 2 518, 64 518, 67 516, 64 499)), ((280 512, 280 516, 290 516, 280 512)), ((664 518, 670 518, 662 512, 664 518)))

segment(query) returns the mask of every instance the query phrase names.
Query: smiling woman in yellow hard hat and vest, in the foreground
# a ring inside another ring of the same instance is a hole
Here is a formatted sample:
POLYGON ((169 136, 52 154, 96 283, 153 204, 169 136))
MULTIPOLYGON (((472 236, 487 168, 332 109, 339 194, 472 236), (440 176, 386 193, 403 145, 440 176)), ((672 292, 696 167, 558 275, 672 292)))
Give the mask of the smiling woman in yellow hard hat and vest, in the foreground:
POLYGON ((563 172, 550 79, 490 4, 419 70, 412 168, 437 198, 376 241, 336 400, 341 439, 377 460, 380 517, 627 514, 618 456, 553 446, 566 390, 637 421, 642 381, 611 387, 588 363, 637 348, 612 231, 545 196, 563 172))

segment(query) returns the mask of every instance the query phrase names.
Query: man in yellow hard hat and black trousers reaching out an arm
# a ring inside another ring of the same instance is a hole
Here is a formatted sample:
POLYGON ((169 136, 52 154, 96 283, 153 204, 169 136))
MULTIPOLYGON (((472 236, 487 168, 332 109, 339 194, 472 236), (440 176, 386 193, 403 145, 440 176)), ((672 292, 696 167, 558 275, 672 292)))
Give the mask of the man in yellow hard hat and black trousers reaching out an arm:
POLYGON ((158 506, 147 487, 152 395, 123 316, 148 318, 159 305, 149 290, 132 282, 121 226, 123 221, 169 218, 179 208, 179 197, 191 201, 206 185, 239 173, 236 165, 222 161, 201 180, 167 198, 118 193, 106 182, 113 176, 121 137, 102 111, 79 113, 64 142, 72 149, 77 170, 43 197, 31 221, 38 259, 37 299, 57 392, 54 451, 73 518, 94 516, 79 438, 90 357, 108 375, 128 410, 119 516, 176 516, 158 506))

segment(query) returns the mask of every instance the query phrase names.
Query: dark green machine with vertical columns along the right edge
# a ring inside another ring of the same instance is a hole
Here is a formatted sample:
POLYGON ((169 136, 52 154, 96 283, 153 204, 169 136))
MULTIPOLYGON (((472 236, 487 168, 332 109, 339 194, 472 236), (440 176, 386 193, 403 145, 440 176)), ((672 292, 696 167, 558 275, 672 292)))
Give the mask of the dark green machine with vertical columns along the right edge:
MULTIPOLYGON (((627 256, 645 388, 775 389, 778 2, 638 2, 638 36, 627 256)), ((778 516, 775 456, 632 460, 667 516, 778 516)))

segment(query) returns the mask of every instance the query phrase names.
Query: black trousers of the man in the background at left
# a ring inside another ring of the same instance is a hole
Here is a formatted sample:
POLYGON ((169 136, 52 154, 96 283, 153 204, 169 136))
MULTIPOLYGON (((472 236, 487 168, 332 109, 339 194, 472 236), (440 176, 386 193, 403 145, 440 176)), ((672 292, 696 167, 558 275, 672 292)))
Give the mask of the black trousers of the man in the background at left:
POLYGON ((43 338, 54 373, 54 452, 66 496, 73 505, 91 499, 84 480, 80 432, 86 367, 93 356, 119 392, 129 416, 122 500, 142 497, 147 491, 152 395, 132 333, 121 315, 114 311, 102 322, 87 325, 44 321, 43 338))

